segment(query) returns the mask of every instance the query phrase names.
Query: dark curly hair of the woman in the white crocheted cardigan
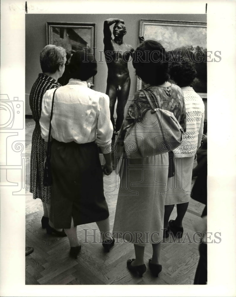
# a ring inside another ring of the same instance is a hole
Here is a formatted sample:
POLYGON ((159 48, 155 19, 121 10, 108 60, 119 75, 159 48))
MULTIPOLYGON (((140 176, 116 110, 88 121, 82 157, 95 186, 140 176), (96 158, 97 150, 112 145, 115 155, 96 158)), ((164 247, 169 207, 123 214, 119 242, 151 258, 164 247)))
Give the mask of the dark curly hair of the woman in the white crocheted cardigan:
POLYGON ((170 65, 170 77, 181 87, 189 86, 197 75, 194 63, 188 60, 172 62, 170 65))

